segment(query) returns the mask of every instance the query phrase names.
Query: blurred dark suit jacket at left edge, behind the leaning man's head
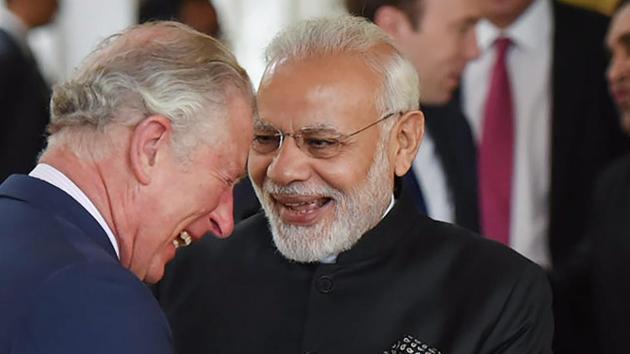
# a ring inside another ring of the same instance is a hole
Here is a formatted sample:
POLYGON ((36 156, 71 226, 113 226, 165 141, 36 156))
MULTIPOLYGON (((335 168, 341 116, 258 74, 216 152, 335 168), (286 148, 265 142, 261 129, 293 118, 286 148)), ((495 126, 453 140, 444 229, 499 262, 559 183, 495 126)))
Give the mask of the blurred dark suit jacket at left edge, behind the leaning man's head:
POLYGON ((0 29, 0 183, 35 166, 45 145, 49 98, 33 58, 0 29))

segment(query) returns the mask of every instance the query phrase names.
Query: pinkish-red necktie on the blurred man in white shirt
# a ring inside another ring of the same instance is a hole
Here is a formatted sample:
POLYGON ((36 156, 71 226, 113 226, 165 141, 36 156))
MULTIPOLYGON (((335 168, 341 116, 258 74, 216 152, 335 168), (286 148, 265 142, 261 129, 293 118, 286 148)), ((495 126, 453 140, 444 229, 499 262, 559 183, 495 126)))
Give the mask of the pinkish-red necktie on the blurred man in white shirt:
POLYGON ((497 57, 492 69, 478 152, 482 233, 506 245, 510 237, 514 168, 514 110, 506 65, 510 44, 510 39, 503 37, 494 43, 497 57))

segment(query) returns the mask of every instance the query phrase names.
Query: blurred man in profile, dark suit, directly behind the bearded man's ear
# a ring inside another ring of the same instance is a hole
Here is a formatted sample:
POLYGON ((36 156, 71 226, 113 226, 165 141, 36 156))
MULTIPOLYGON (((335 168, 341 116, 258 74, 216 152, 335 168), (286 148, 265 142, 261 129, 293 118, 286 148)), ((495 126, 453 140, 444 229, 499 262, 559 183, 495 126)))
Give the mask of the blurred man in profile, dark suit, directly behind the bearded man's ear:
POLYGON ((376 23, 411 60, 420 76, 426 117, 422 148, 403 178, 430 217, 479 230, 472 133, 453 96, 466 64, 479 55, 476 0, 346 0, 347 10, 376 23))

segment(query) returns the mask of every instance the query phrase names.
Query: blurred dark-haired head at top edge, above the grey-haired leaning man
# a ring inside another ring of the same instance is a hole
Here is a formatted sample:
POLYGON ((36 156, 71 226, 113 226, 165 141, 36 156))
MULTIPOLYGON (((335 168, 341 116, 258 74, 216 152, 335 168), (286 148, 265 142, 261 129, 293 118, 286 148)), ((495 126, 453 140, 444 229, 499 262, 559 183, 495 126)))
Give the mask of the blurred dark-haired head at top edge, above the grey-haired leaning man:
POLYGON ((209 0, 141 0, 140 23, 175 20, 215 38, 221 36, 217 11, 209 0))

